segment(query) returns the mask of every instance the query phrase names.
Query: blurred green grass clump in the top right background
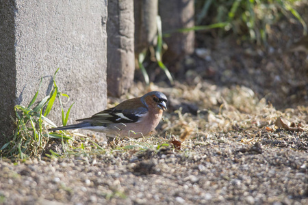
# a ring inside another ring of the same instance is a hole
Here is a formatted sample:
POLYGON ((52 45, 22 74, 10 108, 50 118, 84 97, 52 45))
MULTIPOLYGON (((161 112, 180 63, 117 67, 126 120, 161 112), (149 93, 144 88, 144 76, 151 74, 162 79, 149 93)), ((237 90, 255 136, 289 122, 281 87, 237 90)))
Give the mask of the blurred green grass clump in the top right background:
MULTIPOLYGON (((303 34, 307 35, 307 25, 294 9, 298 0, 229 0, 229 1, 196 1, 198 10, 196 26, 177 31, 200 31, 220 28, 266 44, 267 31, 270 25, 276 23, 281 16, 294 16, 303 25, 303 34), (209 17, 209 21, 207 21, 209 17), (209 25, 201 25, 203 22, 209 25)), ((173 31, 170 31, 173 32, 173 31)), ((169 33, 170 33, 169 32, 169 33)), ((168 33, 166 33, 168 34, 168 33)))

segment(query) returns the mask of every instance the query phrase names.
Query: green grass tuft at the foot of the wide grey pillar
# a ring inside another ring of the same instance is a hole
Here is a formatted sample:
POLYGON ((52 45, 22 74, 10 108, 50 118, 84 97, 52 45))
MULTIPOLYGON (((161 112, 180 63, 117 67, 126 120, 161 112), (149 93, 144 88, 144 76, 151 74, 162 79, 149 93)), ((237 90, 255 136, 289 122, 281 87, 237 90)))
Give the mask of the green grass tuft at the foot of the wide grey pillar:
MULTIPOLYGON (((59 69, 57 69, 58 71, 59 69)), ((57 74, 57 71, 55 74, 57 74)), ((59 92, 57 84, 55 83, 55 74, 53 77, 53 90, 51 94, 43 98, 38 105, 34 107, 38 92, 42 85, 42 79, 38 91, 32 98, 31 102, 27 107, 22 105, 16 105, 14 107, 16 113, 16 119, 12 118, 16 124, 16 129, 12 140, 5 143, 1 148, 1 156, 7 156, 9 158, 24 159, 31 156, 40 156, 44 148, 49 143, 50 138, 62 139, 62 143, 68 139, 73 139, 65 132, 59 133, 48 133, 50 126, 55 124, 47 118, 51 108, 55 102, 55 98, 59 99, 60 106, 62 109, 62 123, 65 125, 68 120, 68 115, 73 104, 69 107, 67 113, 64 113, 62 106, 61 96, 65 96, 69 99, 67 94, 59 92)), ((55 154, 56 155, 56 154, 55 154)))

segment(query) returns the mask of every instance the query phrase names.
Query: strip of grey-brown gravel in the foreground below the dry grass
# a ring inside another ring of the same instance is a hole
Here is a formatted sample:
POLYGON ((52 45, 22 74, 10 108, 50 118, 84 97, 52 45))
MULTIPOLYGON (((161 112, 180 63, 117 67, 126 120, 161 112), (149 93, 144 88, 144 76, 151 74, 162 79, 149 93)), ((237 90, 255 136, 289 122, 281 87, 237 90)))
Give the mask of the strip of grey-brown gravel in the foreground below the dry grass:
MULTIPOLYGON (((307 146, 307 135, 298 140, 307 146)), ((182 151, 164 147, 15 164, 2 160, 0 200, 3 204, 308 204, 307 150, 262 140, 245 144, 223 134, 204 141, 182 151)))

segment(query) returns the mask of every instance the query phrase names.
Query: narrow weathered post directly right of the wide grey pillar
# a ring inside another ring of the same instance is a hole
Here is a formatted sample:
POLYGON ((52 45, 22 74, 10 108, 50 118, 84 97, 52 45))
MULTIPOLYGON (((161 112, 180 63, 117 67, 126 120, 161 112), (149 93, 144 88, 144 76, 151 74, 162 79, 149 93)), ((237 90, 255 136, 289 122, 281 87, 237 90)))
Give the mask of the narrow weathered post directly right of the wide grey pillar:
POLYGON ((110 96, 125 94, 133 84, 133 0, 108 0, 107 85, 110 96))

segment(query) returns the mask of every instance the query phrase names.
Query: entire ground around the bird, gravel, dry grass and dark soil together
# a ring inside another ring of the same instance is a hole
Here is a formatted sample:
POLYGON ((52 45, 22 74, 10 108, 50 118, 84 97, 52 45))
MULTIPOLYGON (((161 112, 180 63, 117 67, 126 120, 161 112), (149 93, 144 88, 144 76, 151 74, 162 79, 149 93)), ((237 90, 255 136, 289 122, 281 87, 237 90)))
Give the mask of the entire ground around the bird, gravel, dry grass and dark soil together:
MULTIPOLYGON (((308 57, 289 51, 303 30, 271 29, 268 46, 198 33, 173 86, 150 70, 146 91, 168 97, 151 137, 1 159, 0 204, 308 204, 308 57)), ((146 91, 136 82, 109 104, 146 91)))

